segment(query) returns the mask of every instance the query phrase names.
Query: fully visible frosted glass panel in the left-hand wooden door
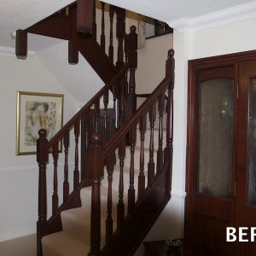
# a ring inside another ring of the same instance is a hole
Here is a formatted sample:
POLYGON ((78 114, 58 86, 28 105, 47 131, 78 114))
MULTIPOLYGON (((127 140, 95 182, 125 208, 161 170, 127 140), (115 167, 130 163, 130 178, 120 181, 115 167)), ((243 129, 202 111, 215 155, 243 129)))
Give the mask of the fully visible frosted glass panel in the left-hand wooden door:
POLYGON ((200 193, 231 197, 234 82, 212 79, 200 84, 200 193))

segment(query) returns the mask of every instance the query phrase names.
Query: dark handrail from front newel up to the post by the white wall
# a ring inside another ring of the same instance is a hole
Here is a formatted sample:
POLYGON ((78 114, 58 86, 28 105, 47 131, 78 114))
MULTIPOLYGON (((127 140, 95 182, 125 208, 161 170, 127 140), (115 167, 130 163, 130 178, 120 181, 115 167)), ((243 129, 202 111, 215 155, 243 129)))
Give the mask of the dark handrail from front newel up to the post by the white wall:
POLYGON ((143 113, 148 110, 151 104, 154 102, 155 98, 160 96, 160 93, 166 88, 168 84, 172 82, 172 77, 167 77, 163 79, 160 84, 156 87, 156 89, 152 92, 152 94, 147 98, 145 102, 137 109, 137 112, 134 113, 130 119, 125 121, 123 128, 115 133, 112 139, 106 144, 103 148, 104 154, 103 157, 106 158, 110 151, 119 143, 122 137, 131 130, 132 126, 135 125, 137 119, 141 118, 143 113))

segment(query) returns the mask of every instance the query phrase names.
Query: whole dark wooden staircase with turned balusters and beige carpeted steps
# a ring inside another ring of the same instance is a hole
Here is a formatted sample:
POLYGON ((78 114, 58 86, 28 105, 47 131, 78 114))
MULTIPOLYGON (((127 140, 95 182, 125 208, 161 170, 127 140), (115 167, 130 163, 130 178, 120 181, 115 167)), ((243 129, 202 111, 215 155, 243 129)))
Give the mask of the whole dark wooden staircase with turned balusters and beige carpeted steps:
POLYGON ((17 31, 16 55, 26 55, 28 32, 65 39, 69 41, 69 62, 78 63, 80 52, 106 83, 55 137, 48 140, 44 127, 38 132, 38 256, 132 255, 171 197, 174 52, 168 52, 166 77, 137 108, 136 27, 131 26, 126 34, 125 10, 110 6, 107 55, 105 3, 101 3, 102 35, 98 44, 95 3, 91 29, 85 29, 91 33, 77 32, 77 17, 84 15, 78 8, 81 2, 89 4, 90 0, 78 0, 26 30, 17 31), (115 65, 114 12, 118 39, 115 65), (60 165, 61 143, 64 163, 60 165), (46 173, 51 158, 52 216, 47 218, 46 173), (73 159, 73 170, 69 170, 73 159), (60 204, 58 166, 62 165, 60 204))

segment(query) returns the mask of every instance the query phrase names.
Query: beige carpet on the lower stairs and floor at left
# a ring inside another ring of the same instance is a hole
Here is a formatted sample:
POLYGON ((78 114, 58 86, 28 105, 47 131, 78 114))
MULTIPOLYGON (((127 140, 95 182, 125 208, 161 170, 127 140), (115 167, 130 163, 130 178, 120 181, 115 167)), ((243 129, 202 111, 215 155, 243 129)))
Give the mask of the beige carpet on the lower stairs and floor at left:
MULTIPOLYGON (((158 132, 154 131, 154 161, 158 148, 158 132)), ((135 189, 137 197, 137 178, 140 165, 140 132, 137 130, 137 147, 135 153, 135 189)), ((164 131, 164 145, 166 144, 166 131, 164 131)), ((150 132, 145 135, 145 176, 148 167, 148 146, 150 132)), ((164 146, 165 147, 165 146, 164 146)), ((117 157, 118 164, 118 157, 117 157)), ((108 175, 105 172, 102 180, 102 246, 105 241, 105 219, 107 217, 108 175)), ((126 147, 124 183, 124 201, 127 201, 127 190, 130 177, 130 147, 126 147)), ((147 178, 146 178, 147 181, 147 178)), ((146 184, 147 185, 147 184, 146 184)), ((119 201, 119 166, 114 166, 113 172, 113 228, 116 228, 116 205, 119 201)), ((82 207, 61 212, 63 230, 55 234, 44 236, 42 247, 44 256, 84 256, 90 250, 90 193, 91 188, 81 190, 82 207)), ((125 212, 127 207, 125 207, 125 212)), ((36 256, 36 235, 20 237, 18 239, 0 242, 0 256, 36 256)))

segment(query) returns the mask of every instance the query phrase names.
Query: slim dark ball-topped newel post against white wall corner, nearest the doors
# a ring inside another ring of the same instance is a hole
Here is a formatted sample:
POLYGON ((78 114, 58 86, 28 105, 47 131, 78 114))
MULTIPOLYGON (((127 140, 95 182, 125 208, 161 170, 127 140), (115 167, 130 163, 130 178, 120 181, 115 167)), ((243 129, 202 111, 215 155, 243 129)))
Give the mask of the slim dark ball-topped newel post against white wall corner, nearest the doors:
POLYGON ((173 152, 173 89, 174 89, 174 50, 168 51, 168 59, 166 61, 166 78, 170 79, 168 85, 168 101, 167 101, 167 125, 166 125, 166 148, 164 150, 164 162, 168 163, 168 171, 166 172, 166 194, 171 193, 172 184, 172 152, 173 152))

